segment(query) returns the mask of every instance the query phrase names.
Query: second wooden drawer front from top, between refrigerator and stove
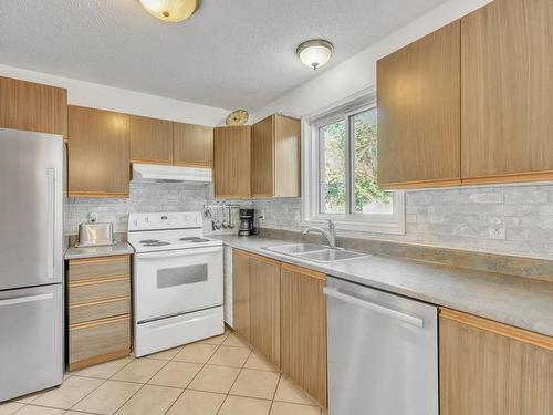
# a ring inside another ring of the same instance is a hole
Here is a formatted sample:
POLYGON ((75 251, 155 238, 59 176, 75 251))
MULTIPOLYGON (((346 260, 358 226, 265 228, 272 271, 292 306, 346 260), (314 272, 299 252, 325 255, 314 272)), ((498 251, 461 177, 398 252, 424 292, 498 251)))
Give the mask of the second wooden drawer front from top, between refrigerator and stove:
POLYGON ((128 295, 131 295, 131 277, 121 277, 108 281, 70 284, 69 289, 70 305, 128 295))

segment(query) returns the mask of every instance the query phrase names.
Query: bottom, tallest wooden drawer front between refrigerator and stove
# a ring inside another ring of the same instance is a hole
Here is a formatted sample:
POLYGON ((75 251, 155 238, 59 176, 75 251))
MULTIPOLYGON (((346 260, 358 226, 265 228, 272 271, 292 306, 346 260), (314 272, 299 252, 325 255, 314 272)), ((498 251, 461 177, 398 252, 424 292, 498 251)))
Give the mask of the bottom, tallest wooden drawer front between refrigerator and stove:
POLYGON ((71 328, 69 343, 70 364, 129 350, 131 317, 71 328))

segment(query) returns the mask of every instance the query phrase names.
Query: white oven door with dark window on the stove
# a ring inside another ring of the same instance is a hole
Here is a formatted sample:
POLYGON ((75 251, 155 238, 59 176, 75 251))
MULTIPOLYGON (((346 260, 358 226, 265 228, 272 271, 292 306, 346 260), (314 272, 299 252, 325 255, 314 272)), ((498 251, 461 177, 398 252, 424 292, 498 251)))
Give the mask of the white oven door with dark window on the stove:
POLYGON ((222 304, 222 247, 136 253, 135 322, 222 304))

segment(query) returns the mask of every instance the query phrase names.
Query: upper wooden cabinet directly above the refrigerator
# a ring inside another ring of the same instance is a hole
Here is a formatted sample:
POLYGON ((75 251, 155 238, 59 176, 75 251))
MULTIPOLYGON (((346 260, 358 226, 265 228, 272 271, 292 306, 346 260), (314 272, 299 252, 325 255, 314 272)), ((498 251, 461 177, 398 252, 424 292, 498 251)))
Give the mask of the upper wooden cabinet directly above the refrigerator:
POLYGON ((0 76, 0 127, 67 136, 67 90, 0 76))

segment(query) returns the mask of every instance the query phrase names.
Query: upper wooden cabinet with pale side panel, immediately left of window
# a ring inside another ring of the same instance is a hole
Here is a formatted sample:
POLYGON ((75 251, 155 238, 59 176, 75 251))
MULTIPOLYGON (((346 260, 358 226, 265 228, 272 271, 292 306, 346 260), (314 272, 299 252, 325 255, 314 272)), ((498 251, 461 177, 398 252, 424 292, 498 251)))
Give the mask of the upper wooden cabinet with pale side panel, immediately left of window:
POLYGON ((301 122, 270 115, 251 129, 252 197, 300 197, 301 122))

